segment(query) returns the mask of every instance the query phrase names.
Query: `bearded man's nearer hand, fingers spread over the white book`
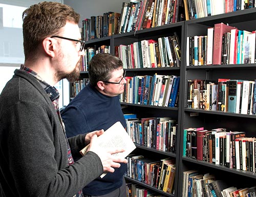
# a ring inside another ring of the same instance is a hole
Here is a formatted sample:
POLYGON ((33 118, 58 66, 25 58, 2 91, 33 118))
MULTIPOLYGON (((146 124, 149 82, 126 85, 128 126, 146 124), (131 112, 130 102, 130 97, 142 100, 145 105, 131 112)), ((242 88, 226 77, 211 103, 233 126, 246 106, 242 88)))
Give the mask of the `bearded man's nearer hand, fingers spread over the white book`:
POLYGON ((121 166, 120 163, 127 163, 126 159, 112 155, 117 152, 123 152, 123 148, 101 148, 99 147, 97 138, 96 134, 91 137, 88 151, 92 151, 99 156, 104 172, 114 172, 114 168, 119 168, 121 166))

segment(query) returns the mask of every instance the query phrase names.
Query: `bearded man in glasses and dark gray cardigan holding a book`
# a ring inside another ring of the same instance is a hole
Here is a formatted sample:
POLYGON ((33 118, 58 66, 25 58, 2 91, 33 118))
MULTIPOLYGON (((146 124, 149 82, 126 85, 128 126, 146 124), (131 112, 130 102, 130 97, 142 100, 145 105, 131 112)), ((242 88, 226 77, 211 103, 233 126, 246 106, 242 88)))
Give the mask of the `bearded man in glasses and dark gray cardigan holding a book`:
POLYGON ((0 193, 83 196, 84 186, 127 160, 112 156, 123 149, 99 147, 103 130, 66 136, 53 85, 79 76, 84 56, 79 14, 67 5, 42 2, 26 9, 23 21, 25 63, 0 95, 0 193), (88 153, 74 162, 89 143, 88 153))

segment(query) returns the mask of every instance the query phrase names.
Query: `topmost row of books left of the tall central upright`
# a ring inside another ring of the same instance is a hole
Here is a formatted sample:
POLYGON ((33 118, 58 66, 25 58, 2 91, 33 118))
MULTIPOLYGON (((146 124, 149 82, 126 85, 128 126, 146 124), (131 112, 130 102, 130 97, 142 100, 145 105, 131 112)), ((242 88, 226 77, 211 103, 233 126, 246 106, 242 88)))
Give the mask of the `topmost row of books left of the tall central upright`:
POLYGON ((180 0, 131 0, 123 2, 121 13, 109 11, 82 20, 82 38, 88 41, 163 26, 185 20, 184 17, 180 0))

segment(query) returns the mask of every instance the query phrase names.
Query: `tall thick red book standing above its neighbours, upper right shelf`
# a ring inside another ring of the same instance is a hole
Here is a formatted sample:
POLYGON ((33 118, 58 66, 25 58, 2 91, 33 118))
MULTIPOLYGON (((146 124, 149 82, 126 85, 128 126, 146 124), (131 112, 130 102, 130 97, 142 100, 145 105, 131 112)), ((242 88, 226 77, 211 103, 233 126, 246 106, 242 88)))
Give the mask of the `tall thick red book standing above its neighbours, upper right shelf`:
POLYGON ((224 23, 219 23, 214 25, 214 49, 212 64, 221 64, 221 51, 222 51, 222 36, 230 32, 231 29, 237 29, 236 27, 225 25, 224 23))

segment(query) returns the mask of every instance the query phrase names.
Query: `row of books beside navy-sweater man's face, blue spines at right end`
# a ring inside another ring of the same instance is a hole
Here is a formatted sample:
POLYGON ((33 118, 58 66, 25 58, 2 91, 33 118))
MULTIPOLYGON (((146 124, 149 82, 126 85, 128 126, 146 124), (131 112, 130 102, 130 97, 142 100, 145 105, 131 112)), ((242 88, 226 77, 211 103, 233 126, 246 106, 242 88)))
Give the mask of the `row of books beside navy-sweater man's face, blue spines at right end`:
POLYGON ((175 75, 126 77, 121 102, 178 107, 180 77, 175 75))

